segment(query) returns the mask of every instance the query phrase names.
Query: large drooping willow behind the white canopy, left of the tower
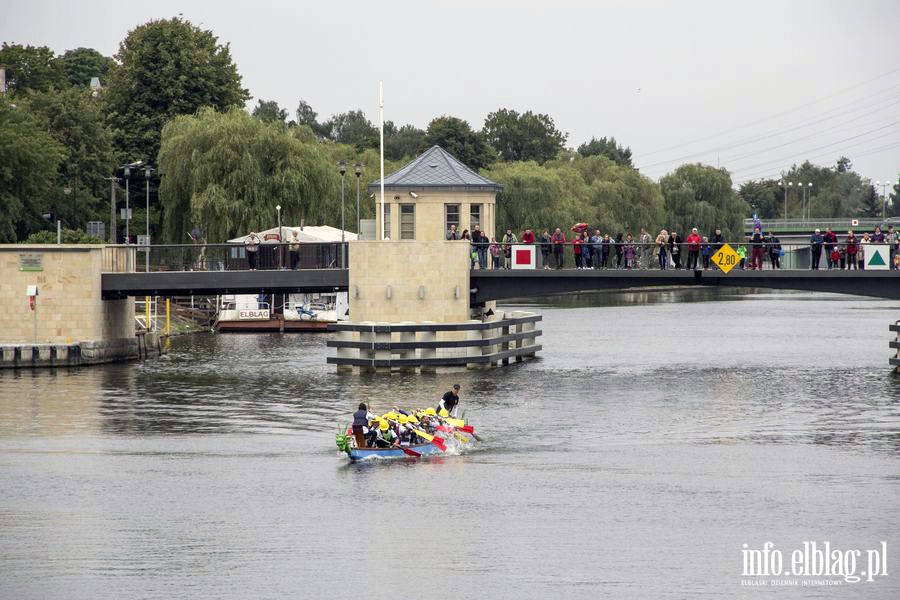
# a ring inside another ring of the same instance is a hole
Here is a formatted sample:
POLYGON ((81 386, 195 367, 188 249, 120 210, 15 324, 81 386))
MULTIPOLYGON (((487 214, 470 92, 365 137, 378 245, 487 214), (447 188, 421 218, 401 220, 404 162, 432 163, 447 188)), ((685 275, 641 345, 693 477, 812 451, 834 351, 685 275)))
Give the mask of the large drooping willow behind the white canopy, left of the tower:
POLYGON ((184 242, 199 229, 209 242, 282 223, 340 223, 336 168, 319 144, 234 108, 201 109, 163 128, 159 151, 164 235, 184 242))

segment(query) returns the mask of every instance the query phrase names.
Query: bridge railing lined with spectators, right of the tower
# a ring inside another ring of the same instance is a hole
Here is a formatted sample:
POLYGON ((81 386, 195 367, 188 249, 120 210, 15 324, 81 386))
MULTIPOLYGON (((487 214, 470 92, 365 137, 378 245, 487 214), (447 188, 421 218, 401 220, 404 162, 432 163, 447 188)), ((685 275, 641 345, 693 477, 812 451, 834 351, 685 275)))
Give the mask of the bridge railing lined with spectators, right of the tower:
MULTIPOLYGON (((846 231, 846 230, 845 230, 846 231)), ((867 256, 874 250, 868 248, 875 244, 873 241, 863 243, 862 236, 856 238, 855 243, 847 243, 847 235, 838 236, 837 242, 811 244, 810 242, 778 242, 753 244, 748 240, 732 241, 727 244, 743 256, 738 259, 736 268, 753 268, 754 250, 759 255, 762 269, 793 269, 808 270, 819 269, 862 269, 867 256), (849 247, 849 248, 848 248, 849 247), (867 250, 868 248, 868 250, 867 250), (832 253, 837 252, 832 261, 832 253), (818 261, 815 260, 818 254, 818 261), (851 258, 848 258, 851 257, 851 258), (854 263, 854 264, 851 264, 854 263)), ((515 244, 523 246, 524 244, 515 244)), ((724 245, 724 244, 722 244, 724 245)), ((888 247, 884 262, 892 265, 895 255, 895 247, 887 242, 878 244, 888 247)), ((535 268, 537 269, 675 269, 698 268, 715 269, 713 255, 721 245, 708 242, 700 243, 696 254, 692 251, 691 244, 666 244, 663 248, 654 243, 641 244, 640 242, 615 242, 611 244, 575 244, 565 242, 563 244, 533 244, 535 248, 535 268), (576 252, 578 254, 576 254, 576 252), (662 259, 660 253, 662 252, 662 259), (694 259, 696 257, 696 263, 694 259)), ((500 244, 495 256, 490 249, 484 251, 486 269, 504 269, 511 266, 512 248, 506 253, 507 246, 500 244)), ((482 248, 473 247, 472 268, 482 269, 480 263, 482 248)), ((900 254, 900 251, 896 252, 900 254)))

